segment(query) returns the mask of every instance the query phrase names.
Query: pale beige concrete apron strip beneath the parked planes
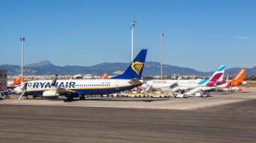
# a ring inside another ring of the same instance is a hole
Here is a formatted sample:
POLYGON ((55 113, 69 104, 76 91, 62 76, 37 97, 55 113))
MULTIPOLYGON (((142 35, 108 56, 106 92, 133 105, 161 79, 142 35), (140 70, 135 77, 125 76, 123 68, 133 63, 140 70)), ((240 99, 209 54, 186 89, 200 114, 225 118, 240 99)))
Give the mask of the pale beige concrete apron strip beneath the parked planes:
MULTIPOLYGON (((90 97, 85 101, 78 98, 74 101, 65 101, 65 98, 58 100, 4 100, 1 104, 6 105, 59 105, 79 107, 102 107, 102 108, 146 108, 146 109, 172 109, 172 110, 193 110, 198 108, 212 107, 250 101, 256 98, 256 88, 242 88, 242 91, 233 93, 210 92, 211 97, 199 98, 110 98, 90 97)), ((16 97, 15 97, 16 99, 16 97)))

